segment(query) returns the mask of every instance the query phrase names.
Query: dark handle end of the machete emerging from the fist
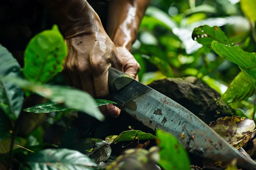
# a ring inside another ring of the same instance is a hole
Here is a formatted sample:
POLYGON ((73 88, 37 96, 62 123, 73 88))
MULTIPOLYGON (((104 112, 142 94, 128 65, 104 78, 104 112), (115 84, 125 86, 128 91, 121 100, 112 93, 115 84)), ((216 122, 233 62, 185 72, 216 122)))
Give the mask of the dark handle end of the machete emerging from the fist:
POLYGON ((126 85, 130 84, 135 79, 131 76, 116 70, 113 67, 108 69, 108 88, 111 93, 118 93, 126 85))

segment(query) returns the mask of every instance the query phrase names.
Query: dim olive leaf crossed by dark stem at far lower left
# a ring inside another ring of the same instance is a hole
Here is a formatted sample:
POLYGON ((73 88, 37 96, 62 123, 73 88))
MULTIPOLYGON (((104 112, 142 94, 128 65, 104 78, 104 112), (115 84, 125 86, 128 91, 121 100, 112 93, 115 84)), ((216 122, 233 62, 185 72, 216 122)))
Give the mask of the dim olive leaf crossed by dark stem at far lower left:
MULTIPOLYGON (((0 154, 5 154, 10 151, 11 141, 12 141, 11 137, 0 139, 0 154)), ((25 145, 26 142, 27 142, 27 140, 22 137, 16 137, 14 139, 14 145, 22 146, 22 145, 25 145)), ((13 150, 18 149, 18 148, 19 147, 17 147, 17 146, 13 146, 13 150)))

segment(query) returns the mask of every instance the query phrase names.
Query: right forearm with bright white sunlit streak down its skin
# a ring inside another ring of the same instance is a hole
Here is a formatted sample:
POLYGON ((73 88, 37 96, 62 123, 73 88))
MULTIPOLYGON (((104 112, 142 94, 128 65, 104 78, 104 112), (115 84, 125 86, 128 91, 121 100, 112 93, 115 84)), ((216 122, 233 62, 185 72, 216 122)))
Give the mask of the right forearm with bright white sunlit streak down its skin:
POLYGON ((116 47, 131 49, 150 0, 112 0, 107 33, 116 47))

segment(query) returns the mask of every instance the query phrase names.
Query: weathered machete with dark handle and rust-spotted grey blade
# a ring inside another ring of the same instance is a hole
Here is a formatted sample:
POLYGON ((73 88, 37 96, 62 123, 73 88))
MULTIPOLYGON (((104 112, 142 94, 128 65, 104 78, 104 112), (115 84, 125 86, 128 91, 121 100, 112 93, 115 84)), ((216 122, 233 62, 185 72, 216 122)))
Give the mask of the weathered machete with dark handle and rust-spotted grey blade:
POLYGON ((185 107, 129 75, 110 67, 108 85, 118 108, 151 129, 171 133, 189 152, 216 161, 237 159, 239 164, 255 165, 185 107))

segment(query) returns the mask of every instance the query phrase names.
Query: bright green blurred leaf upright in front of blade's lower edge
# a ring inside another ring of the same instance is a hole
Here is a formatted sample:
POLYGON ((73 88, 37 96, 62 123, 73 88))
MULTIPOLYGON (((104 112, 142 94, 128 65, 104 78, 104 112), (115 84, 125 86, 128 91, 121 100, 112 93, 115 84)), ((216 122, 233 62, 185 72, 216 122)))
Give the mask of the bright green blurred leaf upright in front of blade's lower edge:
POLYGON ((185 149, 179 141, 170 133, 161 129, 156 130, 156 136, 159 139, 157 145, 160 148, 160 166, 164 169, 189 169, 189 158, 185 149), (180 162, 182 160, 182 163, 180 162))

